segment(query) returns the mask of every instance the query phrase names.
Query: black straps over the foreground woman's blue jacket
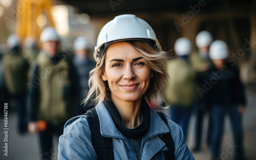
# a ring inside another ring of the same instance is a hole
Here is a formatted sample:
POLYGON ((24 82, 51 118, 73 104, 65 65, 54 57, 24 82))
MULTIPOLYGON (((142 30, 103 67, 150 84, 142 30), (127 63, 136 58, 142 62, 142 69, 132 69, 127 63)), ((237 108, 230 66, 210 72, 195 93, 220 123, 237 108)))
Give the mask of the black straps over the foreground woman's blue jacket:
MULTIPOLYGON (((164 123, 169 126, 167 120, 163 113, 157 112, 164 123)), ((99 117, 96 112, 95 108, 87 111, 84 115, 87 116, 87 121, 89 123, 90 131, 91 131, 91 139, 92 144, 95 149, 97 159, 110 159, 114 160, 114 151, 113 151, 113 140, 112 138, 103 137, 100 134, 100 124, 99 124, 99 117)), ((169 127, 168 127, 169 128, 169 127)), ((174 151, 174 141, 172 135, 165 134, 162 135, 161 140, 166 144, 168 150, 162 151, 164 154, 165 159, 175 159, 174 151)))

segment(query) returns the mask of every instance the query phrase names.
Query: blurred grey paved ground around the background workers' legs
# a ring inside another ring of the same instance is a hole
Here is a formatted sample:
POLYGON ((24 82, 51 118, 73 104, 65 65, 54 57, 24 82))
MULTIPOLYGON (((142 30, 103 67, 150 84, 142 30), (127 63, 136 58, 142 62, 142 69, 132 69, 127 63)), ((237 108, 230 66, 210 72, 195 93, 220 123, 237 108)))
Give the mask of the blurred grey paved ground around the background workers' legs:
MULTIPOLYGON (((248 106, 244 115, 244 146, 245 153, 248 159, 256 159, 256 95, 247 93, 248 106)), ((2 112, 2 111, 1 111, 2 112)), ((169 113, 168 110, 164 111, 169 113)), ((12 160, 37 160, 40 159, 39 155, 39 145, 36 135, 27 134, 19 135, 16 131, 16 114, 9 113, 9 135, 8 135, 8 157, 4 156, 3 146, 4 146, 4 135, 3 135, 3 117, 0 119, 0 159, 12 159, 12 160)), ((193 153, 195 159, 210 159, 210 151, 207 145, 205 144, 205 134, 207 127, 207 117, 205 117, 203 129, 203 140, 202 140, 202 151, 198 153, 193 153)), ((188 147, 193 148, 194 146, 194 128, 195 128, 195 117, 191 117, 190 127, 188 132, 188 147)), ((232 159, 233 154, 228 149, 228 146, 232 144, 232 132, 229 125, 229 120, 226 118, 225 121, 225 135, 223 137, 222 143, 222 157, 223 159, 232 159)), ((56 153, 56 146, 52 149, 56 153)), ((55 154, 56 155, 56 154, 55 154)))

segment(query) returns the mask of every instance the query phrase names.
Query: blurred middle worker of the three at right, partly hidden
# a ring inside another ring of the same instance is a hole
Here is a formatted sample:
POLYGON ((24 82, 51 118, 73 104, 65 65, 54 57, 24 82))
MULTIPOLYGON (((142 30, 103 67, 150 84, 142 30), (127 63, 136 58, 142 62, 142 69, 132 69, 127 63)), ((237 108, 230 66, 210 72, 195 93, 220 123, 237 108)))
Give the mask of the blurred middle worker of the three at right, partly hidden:
MULTIPOLYGON (((208 31, 201 31, 196 36, 196 45, 198 51, 193 52, 190 57, 191 66, 196 71, 196 81, 197 86, 203 88, 204 84, 204 74, 207 74, 207 69, 211 65, 211 60, 209 58, 209 46, 212 42, 212 36, 208 31)), ((196 145, 193 149, 194 152, 198 152, 201 149, 201 139, 202 139, 202 126, 203 126, 203 117, 207 111, 210 110, 208 104, 208 95, 200 94, 197 102, 195 103, 195 114, 196 114, 196 145)), ((198 95, 198 94, 197 94, 198 95)), ((208 134, 210 134, 210 121, 208 126, 208 134)), ((207 136, 207 143, 209 141, 209 135, 207 136)))

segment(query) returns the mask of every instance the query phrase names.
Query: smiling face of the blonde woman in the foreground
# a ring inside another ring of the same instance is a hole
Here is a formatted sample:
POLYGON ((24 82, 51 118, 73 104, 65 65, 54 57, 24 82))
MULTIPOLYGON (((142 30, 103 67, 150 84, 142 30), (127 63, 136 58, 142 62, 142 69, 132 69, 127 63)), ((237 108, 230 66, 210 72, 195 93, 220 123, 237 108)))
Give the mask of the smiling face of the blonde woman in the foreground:
POLYGON ((146 92, 153 75, 131 44, 116 42, 108 47, 101 78, 108 81, 112 99, 138 100, 146 92))

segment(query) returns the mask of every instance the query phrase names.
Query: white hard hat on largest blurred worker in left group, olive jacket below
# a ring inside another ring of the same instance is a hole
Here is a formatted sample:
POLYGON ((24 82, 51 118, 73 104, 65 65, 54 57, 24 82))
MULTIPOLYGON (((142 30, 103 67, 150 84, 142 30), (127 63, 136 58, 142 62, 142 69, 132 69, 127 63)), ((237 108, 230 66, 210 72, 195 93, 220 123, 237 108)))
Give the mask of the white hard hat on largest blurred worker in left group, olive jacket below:
POLYGON ((53 27, 48 27, 48 28, 44 29, 44 31, 42 31, 40 40, 42 43, 45 43, 47 41, 58 41, 59 42, 60 38, 53 27))

